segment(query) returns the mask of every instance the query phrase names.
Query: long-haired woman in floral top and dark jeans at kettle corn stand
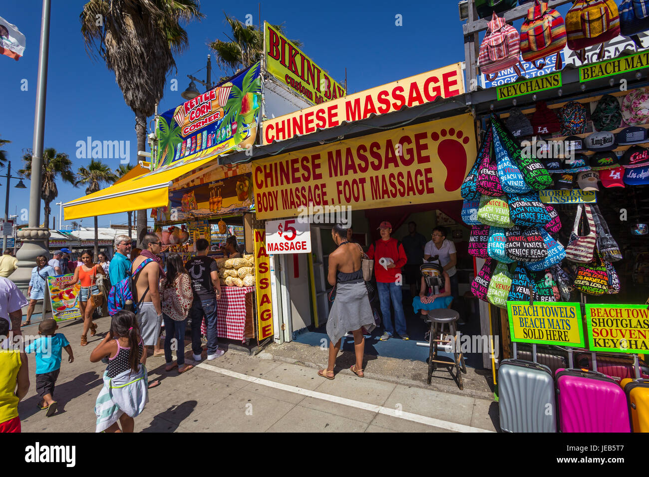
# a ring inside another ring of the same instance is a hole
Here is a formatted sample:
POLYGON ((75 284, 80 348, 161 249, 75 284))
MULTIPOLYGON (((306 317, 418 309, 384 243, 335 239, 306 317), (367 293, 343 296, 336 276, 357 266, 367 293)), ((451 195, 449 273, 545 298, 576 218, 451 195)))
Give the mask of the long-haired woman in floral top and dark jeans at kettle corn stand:
POLYGON ((193 368, 185 364, 185 327, 193 302, 191 280, 182 258, 177 253, 167 259, 167 276, 160 280, 160 299, 162 301, 162 319, 164 319, 165 339, 164 356, 167 361, 165 371, 178 367, 178 373, 193 368), (176 359, 171 356, 171 343, 176 339, 176 359))

